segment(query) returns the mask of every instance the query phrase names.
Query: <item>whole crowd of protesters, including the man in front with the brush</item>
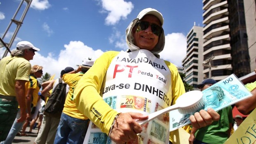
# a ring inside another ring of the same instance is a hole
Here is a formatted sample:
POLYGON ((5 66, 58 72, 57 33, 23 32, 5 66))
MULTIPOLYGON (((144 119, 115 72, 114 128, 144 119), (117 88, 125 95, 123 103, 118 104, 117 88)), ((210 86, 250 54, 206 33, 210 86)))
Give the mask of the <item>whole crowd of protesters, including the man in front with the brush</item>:
MULTIPOLYGON (((17 135, 27 136, 36 126, 38 127, 38 135, 34 144, 82 144, 89 122, 93 122, 102 131, 103 134, 100 134, 99 138, 105 137, 105 135, 109 136, 109 138, 102 138, 103 143, 107 143, 109 140, 122 144, 126 142, 137 144, 142 137, 140 133, 144 130, 142 131, 142 127, 134 119, 145 120, 148 118, 147 115, 137 112, 144 106, 142 104, 144 104, 145 101, 143 100, 146 97, 137 91, 131 92, 128 89, 129 86, 125 85, 127 89, 116 94, 117 98, 127 95, 126 93, 140 95, 140 97, 132 99, 136 103, 134 106, 136 111, 120 112, 113 107, 114 100, 110 99, 111 97, 106 94, 107 92, 101 92, 102 88, 104 91, 104 86, 107 84, 118 84, 121 81, 138 82, 142 79, 147 81, 148 85, 155 84, 157 81, 156 88, 161 89, 161 92, 166 94, 166 99, 169 100, 167 103, 167 101, 157 99, 155 100, 157 104, 161 104, 163 108, 175 104, 177 98, 185 93, 185 88, 175 65, 159 59, 159 53, 164 49, 165 43, 163 24, 164 18, 160 12, 151 8, 143 9, 126 30, 126 41, 129 48, 127 51, 120 53, 108 51, 96 61, 85 58, 78 68, 73 69, 68 66, 60 70, 60 78, 45 81, 42 84, 38 82, 37 78, 42 77, 43 67, 31 66, 29 63, 29 60, 33 59, 35 51, 40 51, 40 49, 30 42, 19 42, 17 49, 12 51, 11 56, 0 60, 1 144, 11 144, 17 135), (161 81, 151 79, 146 74, 142 77, 137 77, 137 75, 132 77, 136 67, 128 65, 132 64, 129 63, 129 58, 135 60, 140 59, 140 57, 147 58, 151 64, 140 63, 137 67, 140 70, 147 70, 161 76, 161 81), (119 67, 124 64, 126 67, 119 67), (128 67, 130 71, 127 74, 125 68, 128 67), (53 115, 45 111, 45 106, 51 93, 57 89, 60 83, 66 84, 65 101, 63 110, 53 115), (27 131, 28 127, 29 130, 27 131)), ((216 81, 208 79, 199 84, 199 88, 204 90, 214 83, 216 81)), ((115 88, 118 89, 118 87, 115 88)), ((109 89, 109 91, 115 91, 115 88, 109 89)), ((250 102, 251 105, 242 107, 244 106, 243 102, 236 105, 239 111, 244 114, 249 114, 255 109, 255 86, 250 91, 254 94, 251 97, 251 101, 253 101, 250 102)), ((200 110, 190 116, 192 126, 190 143, 220 144, 225 142, 230 136, 230 129, 233 124, 230 113, 230 107, 218 111, 218 113, 209 108, 207 111, 200 110), (225 123, 225 127, 221 126, 223 123, 225 123), (215 143, 212 141, 211 129, 217 133, 214 137, 215 143), (220 130, 223 134, 219 133, 220 130), (202 138, 205 133, 209 133, 208 139, 202 138), (218 136, 224 138, 219 139, 218 136)), ((235 119, 237 126, 242 123, 239 118, 240 116, 237 116, 235 119)), ((160 129, 164 133, 163 127, 160 129)), ((165 132, 169 135, 169 131, 165 132)), ((159 139, 163 140, 163 136, 164 134, 159 139)), ((162 142, 172 144, 172 141, 166 136, 162 142)), ((148 142, 152 142, 152 139, 148 139, 148 142)))

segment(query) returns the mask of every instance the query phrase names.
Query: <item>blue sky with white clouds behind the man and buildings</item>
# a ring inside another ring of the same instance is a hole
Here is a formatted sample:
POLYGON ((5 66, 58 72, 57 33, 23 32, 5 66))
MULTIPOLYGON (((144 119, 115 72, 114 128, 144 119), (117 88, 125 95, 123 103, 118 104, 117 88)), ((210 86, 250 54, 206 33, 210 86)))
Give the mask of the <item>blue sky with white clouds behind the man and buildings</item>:
MULTIPOLYGON (((0 0, 0 36, 14 16, 20 0, 0 0)), ((164 16, 166 44, 161 58, 181 66, 186 54, 186 35, 203 26, 202 0, 33 0, 11 50, 26 40, 41 49, 31 65, 56 74, 67 66, 77 68, 84 58, 103 52, 126 50, 125 30, 137 14, 152 7, 164 16)), ((16 16, 19 20, 26 5, 16 16)), ((9 42, 16 25, 4 41, 9 42)), ((0 48, 0 56, 5 48, 0 48)))

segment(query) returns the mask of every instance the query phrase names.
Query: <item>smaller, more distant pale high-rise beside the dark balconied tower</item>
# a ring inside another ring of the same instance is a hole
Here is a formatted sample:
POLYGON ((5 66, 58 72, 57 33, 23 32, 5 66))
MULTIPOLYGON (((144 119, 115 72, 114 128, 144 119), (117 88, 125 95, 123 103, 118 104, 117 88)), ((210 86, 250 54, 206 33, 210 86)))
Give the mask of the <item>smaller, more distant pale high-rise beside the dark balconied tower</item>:
POLYGON ((197 88, 203 80, 203 28, 193 26, 187 34, 187 54, 182 60, 183 73, 187 84, 197 88))

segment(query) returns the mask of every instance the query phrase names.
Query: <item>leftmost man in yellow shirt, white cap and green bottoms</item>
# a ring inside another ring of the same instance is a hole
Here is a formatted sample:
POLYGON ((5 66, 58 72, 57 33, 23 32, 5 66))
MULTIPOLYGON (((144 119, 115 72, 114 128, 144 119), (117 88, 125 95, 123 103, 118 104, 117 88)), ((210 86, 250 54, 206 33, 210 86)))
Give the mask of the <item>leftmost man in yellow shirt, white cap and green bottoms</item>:
POLYGON ((4 141, 12 127, 20 107, 21 115, 17 122, 26 119, 25 83, 31 70, 29 60, 35 51, 40 51, 27 41, 17 44, 11 56, 0 60, 0 141, 4 141))

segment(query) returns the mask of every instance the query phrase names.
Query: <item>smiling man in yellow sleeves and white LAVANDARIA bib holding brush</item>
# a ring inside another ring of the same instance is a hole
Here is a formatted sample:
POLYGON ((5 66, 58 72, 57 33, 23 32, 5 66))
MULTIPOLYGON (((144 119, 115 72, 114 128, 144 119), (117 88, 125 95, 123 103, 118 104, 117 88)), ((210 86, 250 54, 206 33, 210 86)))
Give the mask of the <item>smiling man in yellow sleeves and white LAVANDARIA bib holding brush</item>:
MULTIPOLYGON (((143 9, 126 29, 128 50, 103 53, 78 81, 74 89, 76 107, 90 119, 90 125, 94 123, 99 128, 92 130, 89 125, 84 143, 94 143, 101 132, 109 136, 107 143, 169 143, 169 118, 149 121, 145 133, 136 122, 174 105, 185 93, 177 67, 159 58, 165 44, 163 24, 160 12, 143 9), (109 97, 111 106, 105 102, 109 97), (143 98, 143 109, 135 109, 135 97, 143 98), (160 128, 164 134, 159 138, 160 128)), ((213 109, 190 116, 191 124, 197 128, 218 119, 213 109)))

